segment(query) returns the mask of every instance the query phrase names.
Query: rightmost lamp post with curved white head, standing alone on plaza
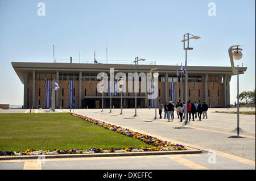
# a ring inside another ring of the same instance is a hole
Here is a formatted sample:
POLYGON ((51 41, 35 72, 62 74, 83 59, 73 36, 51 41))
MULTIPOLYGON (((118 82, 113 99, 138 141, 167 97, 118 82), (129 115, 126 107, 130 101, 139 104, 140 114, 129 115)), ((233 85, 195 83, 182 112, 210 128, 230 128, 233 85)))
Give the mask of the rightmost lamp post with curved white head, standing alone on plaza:
POLYGON ((238 48, 240 45, 233 45, 229 47, 229 58, 230 58, 230 63, 232 67, 232 74, 237 75, 237 128, 234 129, 235 132, 237 132, 237 137, 239 137, 239 133, 243 131, 240 126, 239 126, 239 66, 237 65, 237 68, 234 66, 234 60, 240 60, 243 56, 242 54, 242 49, 238 48), (236 48, 234 48, 236 47, 236 48), (234 51, 234 52, 233 52, 234 51))

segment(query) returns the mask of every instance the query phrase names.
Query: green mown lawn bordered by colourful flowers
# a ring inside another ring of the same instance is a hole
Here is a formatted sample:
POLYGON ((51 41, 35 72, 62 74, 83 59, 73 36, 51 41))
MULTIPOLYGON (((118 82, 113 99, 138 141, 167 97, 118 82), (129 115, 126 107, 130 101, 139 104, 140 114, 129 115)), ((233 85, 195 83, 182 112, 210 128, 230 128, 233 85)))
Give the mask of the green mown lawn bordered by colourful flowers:
POLYGON ((67 113, 0 113, 0 150, 152 147, 67 113))

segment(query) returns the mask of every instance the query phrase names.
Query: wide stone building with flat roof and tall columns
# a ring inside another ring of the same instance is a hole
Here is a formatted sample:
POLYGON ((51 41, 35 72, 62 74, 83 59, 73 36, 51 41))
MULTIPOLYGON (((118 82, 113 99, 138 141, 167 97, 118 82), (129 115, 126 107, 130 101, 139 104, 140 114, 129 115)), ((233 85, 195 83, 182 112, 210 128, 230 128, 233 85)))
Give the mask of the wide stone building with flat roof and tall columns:
MULTIPOLYGON (((46 81, 56 79, 60 88, 56 91, 56 108, 69 108, 69 81, 73 80, 73 103, 75 108, 101 108, 100 92, 97 92, 97 74, 114 68, 118 72, 134 73, 134 64, 75 64, 75 63, 44 63, 44 62, 11 62, 13 68, 24 85, 24 108, 46 107, 46 81)), ((177 93, 179 100, 185 101, 185 78, 183 77, 183 95, 181 95, 181 77, 176 77, 176 66, 171 65, 139 65, 137 73, 147 73, 151 69, 159 71, 159 93, 157 102, 167 102, 171 97, 170 82, 175 82, 175 102, 177 93), (178 85, 179 84, 179 85, 178 85), (177 86, 179 90, 177 90, 177 86)), ((179 74, 180 73, 180 66, 179 74)), ((247 68, 239 68, 243 74, 247 68)), ((207 102, 209 107, 227 107, 230 104, 231 67, 218 66, 187 66, 188 100, 197 103, 207 102)), ((141 81, 141 80, 139 80, 141 81)), ((128 86, 126 86, 128 88, 128 86)), ((141 82, 139 82, 139 90, 141 82)), ((135 94, 123 92, 123 108, 134 108, 135 94)), ((137 107, 148 108, 151 99, 148 93, 137 93, 137 107)), ((112 96, 114 108, 121 106, 121 93, 112 96)), ((104 107, 110 107, 110 96, 104 93, 104 107)))

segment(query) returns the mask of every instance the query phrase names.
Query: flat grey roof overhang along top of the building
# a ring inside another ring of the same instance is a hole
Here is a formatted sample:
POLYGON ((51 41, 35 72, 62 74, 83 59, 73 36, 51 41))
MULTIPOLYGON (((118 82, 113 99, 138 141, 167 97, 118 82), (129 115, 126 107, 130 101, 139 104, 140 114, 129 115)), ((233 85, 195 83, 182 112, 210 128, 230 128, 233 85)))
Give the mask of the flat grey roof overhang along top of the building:
MULTIPOLYGON (((137 72, 150 72, 151 69, 157 68, 160 75, 165 73, 176 74, 176 65, 121 65, 121 64, 73 64, 73 63, 43 63, 43 62, 11 62, 16 74, 20 78, 22 83, 22 73, 31 71, 44 72, 44 73, 55 73, 59 71, 61 73, 77 73, 82 71, 84 73, 109 73, 110 68, 118 70, 117 72, 133 73, 135 72, 136 66, 137 72)), ((180 66, 178 67, 180 69, 180 66)), ((192 75, 232 75, 232 68, 226 66, 187 66, 188 74, 192 75)), ((247 70, 246 67, 239 68, 239 73, 243 74, 247 70)), ((179 72, 180 73, 180 72, 179 72)))

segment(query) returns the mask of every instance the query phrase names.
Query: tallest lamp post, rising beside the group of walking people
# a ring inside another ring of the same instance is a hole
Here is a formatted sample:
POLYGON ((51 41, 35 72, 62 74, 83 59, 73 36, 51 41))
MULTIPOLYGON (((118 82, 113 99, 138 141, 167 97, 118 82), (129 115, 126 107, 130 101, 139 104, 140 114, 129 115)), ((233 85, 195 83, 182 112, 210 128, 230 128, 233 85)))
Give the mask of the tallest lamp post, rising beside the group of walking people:
MULTIPOLYGON (((192 50, 193 48, 189 47, 189 39, 200 39, 200 36, 194 36, 191 35, 191 37, 189 37, 189 33, 186 33, 185 35, 183 35, 183 40, 181 40, 181 42, 183 42, 183 49, 185 50, 185 105, 188 105, 188 73, 187 73, 187 50, 192 50), (187 47, 185 47, 185 42, 187 42, 187 47)), ((187 107, 186 106, 186 110, 185 110, 185 125, 188 123, 188 114, 187 114, 187 107)))

